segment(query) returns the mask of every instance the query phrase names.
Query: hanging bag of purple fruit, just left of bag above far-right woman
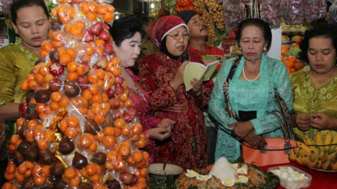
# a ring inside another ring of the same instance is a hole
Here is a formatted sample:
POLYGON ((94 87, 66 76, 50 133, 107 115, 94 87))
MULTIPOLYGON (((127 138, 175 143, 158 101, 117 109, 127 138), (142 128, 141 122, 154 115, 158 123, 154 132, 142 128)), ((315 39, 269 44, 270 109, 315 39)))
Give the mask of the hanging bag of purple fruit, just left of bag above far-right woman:
POLYGON ((305 18, 307 0, 286 0, 283 19, 286 24, 301 25, 305 18))

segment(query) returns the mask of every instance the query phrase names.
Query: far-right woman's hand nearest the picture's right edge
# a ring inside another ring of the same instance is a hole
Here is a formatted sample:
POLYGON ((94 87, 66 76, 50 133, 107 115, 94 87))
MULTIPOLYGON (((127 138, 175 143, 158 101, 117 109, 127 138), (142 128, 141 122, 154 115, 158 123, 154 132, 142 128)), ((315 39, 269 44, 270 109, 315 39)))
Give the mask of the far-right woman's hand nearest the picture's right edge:
POLYGON ((318 130, 332 129, 333 119, 323 113, 316 113, 310 118, 310 126, 318 130))

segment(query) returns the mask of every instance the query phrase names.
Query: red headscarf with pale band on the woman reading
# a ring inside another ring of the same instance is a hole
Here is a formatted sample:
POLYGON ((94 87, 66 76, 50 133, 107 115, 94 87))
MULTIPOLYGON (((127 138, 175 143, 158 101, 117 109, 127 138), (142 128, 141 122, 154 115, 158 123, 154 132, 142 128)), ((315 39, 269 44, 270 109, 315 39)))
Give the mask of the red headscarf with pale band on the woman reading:
POLYGON ((151 37, 153 42, 159 48, 161 41, 166 37, 166 35, 180 26, 184 26, 189 33, 189 27, 187 27, 180 17, 170 15, 160 18, 152 29, 151 37))

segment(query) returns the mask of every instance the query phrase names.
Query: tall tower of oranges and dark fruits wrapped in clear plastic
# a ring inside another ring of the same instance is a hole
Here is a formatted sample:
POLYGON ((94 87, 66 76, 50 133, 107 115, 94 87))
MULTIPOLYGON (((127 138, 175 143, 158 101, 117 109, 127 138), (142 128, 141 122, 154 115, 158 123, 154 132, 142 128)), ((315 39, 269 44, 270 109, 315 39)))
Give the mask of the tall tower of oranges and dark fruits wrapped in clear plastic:
POLYGON ((146 188, 147 139, 106 25, 114 7, 57 2, 42 59, 21 85, 3 188, 146 188))

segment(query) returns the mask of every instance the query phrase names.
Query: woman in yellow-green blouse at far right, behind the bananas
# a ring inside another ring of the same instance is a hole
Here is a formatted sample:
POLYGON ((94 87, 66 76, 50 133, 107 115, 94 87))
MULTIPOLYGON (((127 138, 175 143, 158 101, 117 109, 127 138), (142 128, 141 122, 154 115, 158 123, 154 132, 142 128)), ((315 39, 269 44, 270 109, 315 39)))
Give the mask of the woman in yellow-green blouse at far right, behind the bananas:
POLYGON ((291 74, 293 131, 296 139, 337 134, 337 26, 323 24, 307 30, 299 43, 300 59, 309 65, 291 74))

